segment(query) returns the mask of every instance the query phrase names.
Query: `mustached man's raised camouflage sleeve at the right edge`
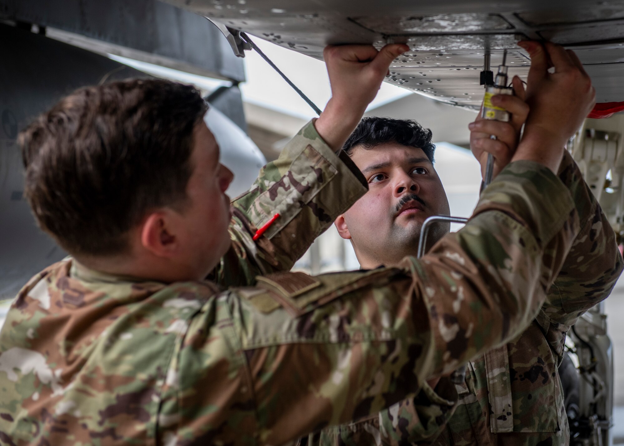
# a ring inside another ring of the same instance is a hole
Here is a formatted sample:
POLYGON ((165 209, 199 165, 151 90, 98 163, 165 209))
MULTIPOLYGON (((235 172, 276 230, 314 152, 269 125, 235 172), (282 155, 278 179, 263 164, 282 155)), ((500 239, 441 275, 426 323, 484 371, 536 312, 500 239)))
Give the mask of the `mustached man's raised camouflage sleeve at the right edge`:
POLYGON ((568 152, 558 176, 572 195, 580 231, 548 290, 540 316, 567 330, 580 315, 607 298, 622 274, 623 262, 615 232, 568 152))

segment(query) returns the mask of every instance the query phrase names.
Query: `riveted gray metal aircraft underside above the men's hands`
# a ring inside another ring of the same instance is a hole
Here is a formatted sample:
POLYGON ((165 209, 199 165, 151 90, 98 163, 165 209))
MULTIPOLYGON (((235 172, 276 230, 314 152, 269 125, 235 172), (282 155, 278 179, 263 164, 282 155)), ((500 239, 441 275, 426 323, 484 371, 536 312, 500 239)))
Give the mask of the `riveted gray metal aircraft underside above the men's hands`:
POLYGON ((167 0, 267 41, 321 58, 326 44, 407 42, 386 81, 437 101, 477 109, 484 54, 525 77, 520 39, 575 49, 598 102, 624 101, 624 2, 598 0, 167 0))

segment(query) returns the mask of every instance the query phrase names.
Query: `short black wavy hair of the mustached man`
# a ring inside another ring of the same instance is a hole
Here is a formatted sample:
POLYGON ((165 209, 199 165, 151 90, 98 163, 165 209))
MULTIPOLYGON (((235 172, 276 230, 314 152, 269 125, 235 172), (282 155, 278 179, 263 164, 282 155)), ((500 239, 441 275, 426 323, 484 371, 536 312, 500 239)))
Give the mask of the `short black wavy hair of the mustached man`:
POLYGON ((432 136, 431 130, 422 127, 412 119, 364 117, 344 143, 343 150, 351 156, 355 146, 373 149, 381 144, 396 142, 402 146, 422 149, 429 161, 434 162, 436 145, 431 142, 432 136))

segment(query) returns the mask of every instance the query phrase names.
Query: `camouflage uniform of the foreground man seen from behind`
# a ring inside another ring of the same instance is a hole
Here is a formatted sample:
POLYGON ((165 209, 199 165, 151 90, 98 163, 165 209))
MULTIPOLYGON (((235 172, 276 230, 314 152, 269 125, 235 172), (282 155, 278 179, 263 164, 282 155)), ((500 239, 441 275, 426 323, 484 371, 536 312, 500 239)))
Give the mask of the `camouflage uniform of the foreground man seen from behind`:
POLYGON ((360 180, 306 126, 236 200, 235 244, 214 275, 235 288, 72 259, 37 274, 0 332, 0 441, 283 444, 376 414, 526 327, 578 232, 562 182, 516 162, 421 261, 253 277, 287 269, 283 249, 328 227, 364 193, 360 180), (300 219, 310 234, 289 232, 300 219))

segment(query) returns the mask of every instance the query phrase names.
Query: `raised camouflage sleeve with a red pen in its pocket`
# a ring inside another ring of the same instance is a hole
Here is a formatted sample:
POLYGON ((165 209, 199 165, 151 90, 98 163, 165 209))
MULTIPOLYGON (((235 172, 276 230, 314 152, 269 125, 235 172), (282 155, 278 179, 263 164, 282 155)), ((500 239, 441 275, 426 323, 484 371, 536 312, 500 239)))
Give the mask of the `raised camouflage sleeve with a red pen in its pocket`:
POLYGON ((253 284, 256 275, 290 270, 366 191, 366 179, 349 156, 334 153, 309 122, 261 169, 250 191, 232 202, 232 245, 208 279, 239 286, 253 284), (275 214, 280 216, 254 241, 275 214))

